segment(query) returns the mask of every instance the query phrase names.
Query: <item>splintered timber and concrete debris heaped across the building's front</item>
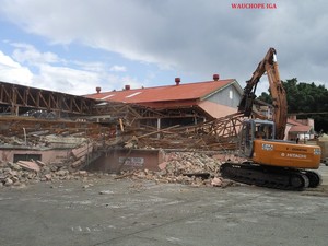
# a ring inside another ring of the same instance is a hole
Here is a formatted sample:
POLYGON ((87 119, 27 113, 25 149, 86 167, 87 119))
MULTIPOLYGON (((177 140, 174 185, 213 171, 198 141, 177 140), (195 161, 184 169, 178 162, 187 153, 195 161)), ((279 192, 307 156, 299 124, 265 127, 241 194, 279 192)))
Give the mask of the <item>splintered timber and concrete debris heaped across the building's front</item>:
MULTIPOLYGON (((138 178, 155 183, 179 183, 195 187, 211 186, 211 180, 220 177, 218 171, 221 161, 215 160, 211 154, 192 151, 234 149, 236 129, 242 121, 242 116, 234 114, 219 119, 209 119, 194 126, 175 125, 157 129, 152 126, 140 127, 139 124, 133 125, 132 122, 137 122, 143 116, 149 117, 149 115, 167 118, 169 113, 165 115, 166 113, 162 110, 150 110, 126 104, 112 106, 113 112, 109 114, 112 121, 109 120, 110 124, 106 125, 107 127, 82 119, 71 121, 1 117, 0 144, 7 148, 20 145, 19 149, 38 151, 62 148, 68 150, 68 154, 62 159, 56 159, 56 163, 45 163, 38 160, 12 163, 8 162, 10 157, 3 155, 5 159, 2 160, 3 164, 0 167, 0 184, 12 186, 65 179, 81 178, 85 180, 92 174, 79 169, 101 156, 94 152, 126 147, 130 150, 134 148, 178 149, 189 152, 166 153, 165 160, 159 165, 160 172, 132 169, 120 173, 128 160, 128 154, 118 168, 119 176, 116 176, 116 179, 138 178), (128 117, 125 117, 125 114, 128 117), (25 129, 24 133, 22 128, 25 129)), ((108 107, 112 106, 108 105, 108 107)), ((102 112, 99 110, 98 114, 102 112)), ((215 184, 213 181, 212 186, 215 184)))

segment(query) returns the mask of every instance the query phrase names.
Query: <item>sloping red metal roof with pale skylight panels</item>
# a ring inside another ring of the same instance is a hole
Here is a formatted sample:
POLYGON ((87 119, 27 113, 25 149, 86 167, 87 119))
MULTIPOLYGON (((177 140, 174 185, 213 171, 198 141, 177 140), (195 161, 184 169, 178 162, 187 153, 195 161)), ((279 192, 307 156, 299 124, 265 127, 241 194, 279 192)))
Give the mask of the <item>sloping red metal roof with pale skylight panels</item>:
POLYGON ((124 103, 155 103, 172 101, 203 99, 212 93, 234 83, 235 80, 219 80, 198 83, 174 84, 148 89, 130 89, 85 95, 89 98, 124 102, 124 103))

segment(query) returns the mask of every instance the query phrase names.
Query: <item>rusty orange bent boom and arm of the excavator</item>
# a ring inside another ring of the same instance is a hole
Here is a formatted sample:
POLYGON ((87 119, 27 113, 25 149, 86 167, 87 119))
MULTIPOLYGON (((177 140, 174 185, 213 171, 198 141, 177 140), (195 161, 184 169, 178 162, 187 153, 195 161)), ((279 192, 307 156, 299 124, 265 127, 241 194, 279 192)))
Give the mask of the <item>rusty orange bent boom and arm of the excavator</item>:
POLYGON ((243 98, 238 105, 238 112, 243 112, 246 117, 251 115, 253 104, 256 98, 255 91, 257 83, 260 78, 267 73, 274 110, 273 121, 276 124, 276 139, 283 139, 286 125, 288 103, 285 91, 280 80, 276 54, 276 49, 270 48, 254 71, 250 80, 246 81, 247 84, 244 89, 243 98))

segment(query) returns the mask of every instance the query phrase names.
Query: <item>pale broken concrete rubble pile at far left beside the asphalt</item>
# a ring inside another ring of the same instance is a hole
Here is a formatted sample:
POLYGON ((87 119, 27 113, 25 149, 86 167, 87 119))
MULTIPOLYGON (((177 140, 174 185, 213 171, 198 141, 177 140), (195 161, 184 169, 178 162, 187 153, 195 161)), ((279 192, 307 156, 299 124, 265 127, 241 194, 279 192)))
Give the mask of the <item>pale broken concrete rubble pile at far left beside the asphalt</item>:
POLYGON ((39 181, 82 179, 91 176, 85 171, 69 169, 62 164, 45 165, 39 161, 19 161, 0 164, 0 187, 25 186, 39 181))

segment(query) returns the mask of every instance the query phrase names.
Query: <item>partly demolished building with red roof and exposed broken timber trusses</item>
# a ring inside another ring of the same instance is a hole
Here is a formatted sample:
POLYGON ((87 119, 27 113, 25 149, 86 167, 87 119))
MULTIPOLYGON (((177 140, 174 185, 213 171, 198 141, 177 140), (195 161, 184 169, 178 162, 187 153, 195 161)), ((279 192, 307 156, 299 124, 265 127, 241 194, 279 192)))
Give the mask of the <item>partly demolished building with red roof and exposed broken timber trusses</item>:
MULTIPOLYGON (((73 161, 74 166, 83 167, 99 161, 101 155, 113 157, 119 148, 134 149, 122 151, 122 156, 136 155, 137 147, 153 149, 148 153, 155 152, 155 163, 162 157, 154 149, 231 149, 239 125, 239 115, 232 113, 242 93, 235 80, 219 80, 218 74, 198 83, 183 84, 176 79, 167 86, 97 89, 85 96, 0 82, 1 161, 73 161), (68 138, 77 139, 68 145, 68 138), (75 149, 83 154, 72 159, 72 153, 79 152, 75 149)), ((122 160, 125 165, 148 167, 140 156, 130 156, 129 162, 122 156, 116 157, 115 168, 122 160)), ((149 162, 154 163, 153 159, 149 162)))

